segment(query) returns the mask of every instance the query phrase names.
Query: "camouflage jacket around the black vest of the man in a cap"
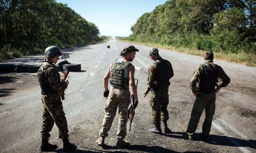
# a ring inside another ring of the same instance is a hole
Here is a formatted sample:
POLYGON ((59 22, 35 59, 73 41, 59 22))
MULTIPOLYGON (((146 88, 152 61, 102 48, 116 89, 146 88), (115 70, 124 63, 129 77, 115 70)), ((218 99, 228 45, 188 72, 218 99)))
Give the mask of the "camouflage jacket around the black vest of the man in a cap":
MULTIPOLYGON (((154 62, 153 64, 150 65, 149 67, 149 72, 148 72, 148 85, 150 88, 152 88, 153 86, 156 86, 156 75, 158 72, 158 67, 156 66, 157 62, 166 62, 166 64, 169 66, 169 79, 171 79, 174 75, 173 73, 173 67, 171 65, 171 63, 168 60, 164 60, 162 57, 159 57, 156 62, 154 62)), ((166 84, 166 86, 169 86, 169 84, 166 84)))

